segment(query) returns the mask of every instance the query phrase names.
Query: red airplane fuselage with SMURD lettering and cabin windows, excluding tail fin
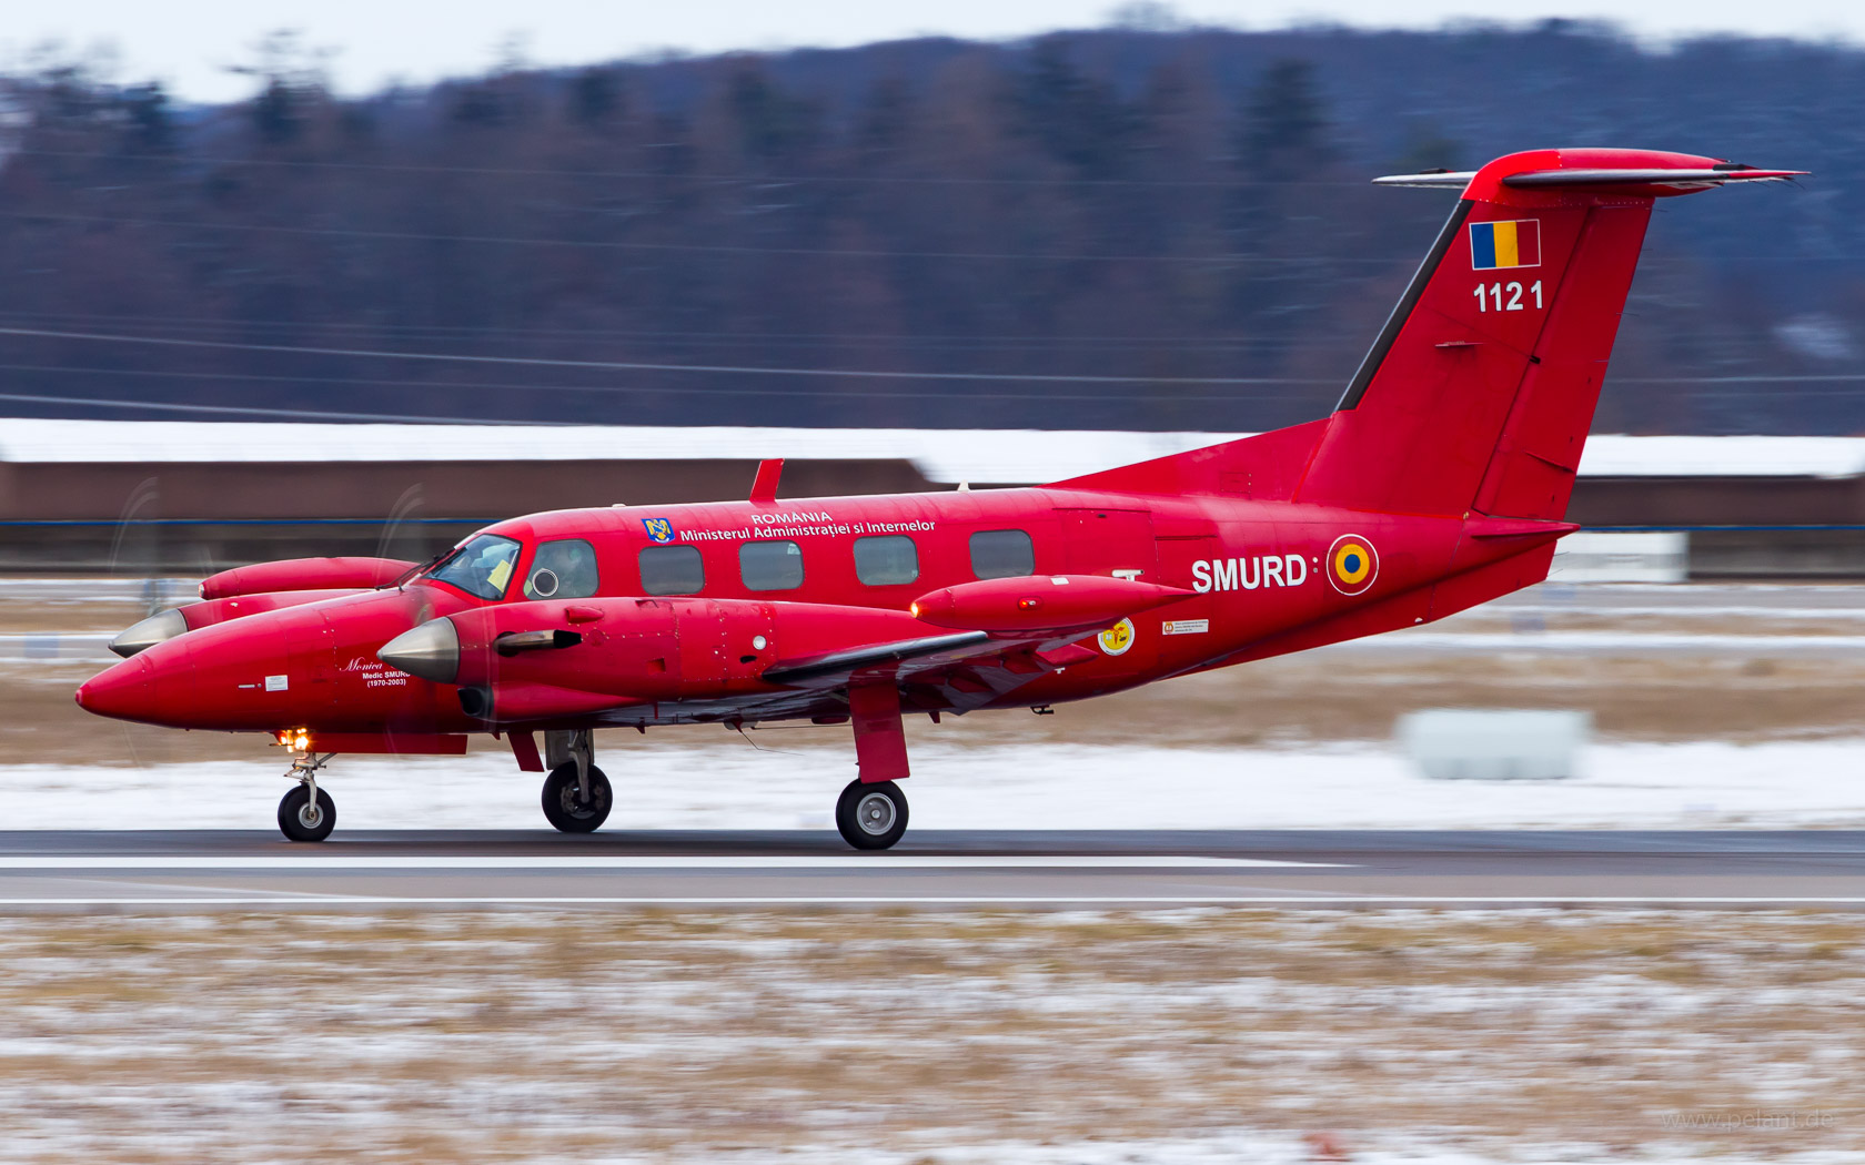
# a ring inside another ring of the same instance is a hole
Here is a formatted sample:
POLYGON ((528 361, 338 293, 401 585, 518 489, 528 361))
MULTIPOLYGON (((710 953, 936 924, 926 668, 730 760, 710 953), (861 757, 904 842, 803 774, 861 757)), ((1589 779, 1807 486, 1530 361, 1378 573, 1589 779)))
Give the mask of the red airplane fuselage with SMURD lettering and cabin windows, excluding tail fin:
MULTIPOLYGON (((554 511, 481 531, 517 542, 500 598, 423 576, 261 611, 157 643, 86 684, 80 701, 172 727, 345 734, 474 733, 532 720, 822 718, 847 705, 819 688, 768 682, 765 673, 798 658, 938 636, 949 621, 932 624, 910 608, 940 589, 1011 572, 1134 578, 1186 591, 1128 617, 1125 630, 1076 630, 1069 637, 1087 651, 1063 665, 1011 669, 1011 682, 947 669, 910 693, 908 710, 1048 705, 1363 634, 1341 615, 1421 587, 1423 602, 1401 619, 1436 617, 1444 611, 1430 610, 1427 583, 1453 565, 1462 572, 1529 548, 1520 535, 1466 537, 1464 526, 1285 501, 1059 488, 554 511), (1018 535, 1028 535, 1022 563, 1018 535), (541 548, 565 541, 587 544, 593 580, 584 574, 576 598, 526 598, 520 580, 537 574, 541 548), (1013 561, 990 561, 992 554, 1013 561), (666 565, 655 574, 655 555, 675 559, 677 576, 666 565), (481 651, 490 667, 476 667, 468 647, 459 684, 377 660, 395 636, 446 615, 485 624, 487 643, 532 630, 574 630, 582 643, 511 658, 481 651), (1315 634, 1276 645, 1296 628, 1315 634), (472 686, 500 692, 494 718, 463 708, 461 690, 472 686)), ((1548 542, 1557 531, 1535 533, 1531 542, 1548 542)))

